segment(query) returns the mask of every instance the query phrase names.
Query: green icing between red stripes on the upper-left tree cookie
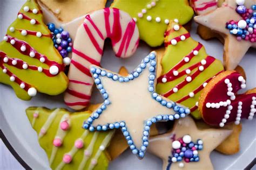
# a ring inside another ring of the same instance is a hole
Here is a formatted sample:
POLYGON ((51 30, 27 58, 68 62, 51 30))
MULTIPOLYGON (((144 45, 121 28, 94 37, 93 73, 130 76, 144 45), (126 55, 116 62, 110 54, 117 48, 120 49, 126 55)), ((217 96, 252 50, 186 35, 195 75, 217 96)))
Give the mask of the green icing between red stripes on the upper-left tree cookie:
MULTIPOLYGON (((9 29, 10 27, 14 27, 15 29, 21 30, 30 30, 41 32, 42 34, 50 34, 50 31, 43 23, 43 15, 39 12, 39 6, 36 1, 31 0, 27 1, 21 8, 19 12, 24 13, 24 15, 36 19, 39 24, 32 25, 30 24, 30 20, 28 19, 16 19, 8 28, 6 34, 11 37, 15 37, 19 40, 27 42, 32 48, 36 49, 37 52, 45 55, 49 60, 56 61, 62 64, 62 57, 58 53, 57 49, 53 47, 53 42, 50 37, 38 38, 32 35, 22 36, 21 32, 15 30, 15 32, 11 32, 9 29), (38 13, 34 14, 32 12, 25 12, 23 10, 24 6, 29 6, 29 9, 37 9, 38 13)), ((43 68, 49 69, 50 66, 46 65, 45 63, 40 62, 35 58, 31 58, 30 56, 23 55, 20 53, 15 47, 13 47, 9 42, 2 41, 0 42, 0 51, 3 51, 8 55, 10 58, 17 58, 23 60, 24 62, 28 63, 28 65, 32 66, 41 66, 43 68)), ((68 78, 64 74, 64 72, 60 72, 58 75, 49 77, 44 73, 40 73, 37 70, 31 69, 18 69, 14 66, 7 65, 4 63, 4 66, 12 72, 12 74, 16 75, 19 79, 23 82, 31 84, 32 87, 35 87, 37 91, 49 95, 58 95, 62 93, 66 87, 68 86, 68 78)), ((17 97, 21 98, 22 100, 30 100, 30 96, 28 95, 27 91, 21 89, 19 84, 16 82, 11 82, 10 77, 7 74, 2 72, 2 68, 0 68, 0 82, 4 84, 9 84, 14 90, 17 97)))

